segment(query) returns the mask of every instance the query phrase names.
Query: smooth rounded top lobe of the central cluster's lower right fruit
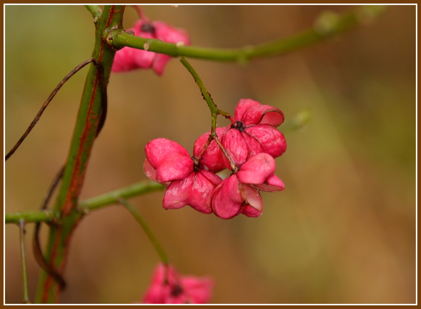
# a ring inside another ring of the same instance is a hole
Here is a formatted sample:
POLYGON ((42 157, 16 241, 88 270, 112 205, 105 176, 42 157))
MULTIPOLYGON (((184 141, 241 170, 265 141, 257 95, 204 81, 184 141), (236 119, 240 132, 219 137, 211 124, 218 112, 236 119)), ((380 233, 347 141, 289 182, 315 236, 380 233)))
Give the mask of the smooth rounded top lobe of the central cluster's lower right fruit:
POLYGON ((275 168, 275 160, 272 156, 262 152, 248 159, 241 166, 237 177, 242 183, 264 183, 267 178, 273 175, 275 168))

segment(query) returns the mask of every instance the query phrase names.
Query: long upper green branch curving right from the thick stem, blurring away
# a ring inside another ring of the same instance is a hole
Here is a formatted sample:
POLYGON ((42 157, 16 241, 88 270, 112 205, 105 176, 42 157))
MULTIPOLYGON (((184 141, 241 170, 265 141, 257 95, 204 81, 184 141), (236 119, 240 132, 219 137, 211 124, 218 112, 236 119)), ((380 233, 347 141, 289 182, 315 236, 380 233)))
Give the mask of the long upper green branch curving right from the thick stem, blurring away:
POLYGON ((373 18, 376 17, 382 12, 379 8, 380 6, 374 5, 362 6, 357 10, 344 13, 343 15, 337 15, 335 13, 322 14, 312 29, 272 42, 242 48, 184 46, 182 44, 163 42, 158 39, 136 37, 121 30, 110 32, 107 40, 109 44, 117 48, 128 46, 143 50, 145 43, 147 43, 147 50, 173 57, 184 56, 213 61, 246 63, 257 57, 282 55, 292 52, 333 35, 340 34, 352 26, 364 22, 362 16, 370 16, 371 14, 373 18))

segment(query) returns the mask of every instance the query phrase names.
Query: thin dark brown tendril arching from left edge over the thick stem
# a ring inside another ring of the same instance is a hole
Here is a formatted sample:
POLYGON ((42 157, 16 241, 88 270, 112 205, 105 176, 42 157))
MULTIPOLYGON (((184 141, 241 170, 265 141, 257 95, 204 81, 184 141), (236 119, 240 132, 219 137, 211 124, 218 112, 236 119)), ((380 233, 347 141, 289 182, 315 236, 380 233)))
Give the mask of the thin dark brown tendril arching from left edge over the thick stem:
POLYGON ((102 67, 102 64, 99 61, 97 61, 95 58, 91 58, 91 59, 88 59, 88 60, 84 61, 83 63, 80 63, 80 65, 77 65, 76 68, 74 68, 72 71, 70 71, 70 73, 67 74, 62 81, 60 81, 60 83, 56 86, 56 88, 53 90, 53 92, 51 92, 50 96, 44 102, 43 106, 41 106, 40 111, 37 113, 34 120, 32 120, 31 124, 29 125, 29 127, 27 128, 25 133, 21 136, 19 141, 17 141, 15 146, 13 146, 13 148, 8 152, 8 154, 6 154, 5 160, 10 158, 11 155, 16 151, 16 149, 18 149, 20 144, 22 144, 22 141, 24 141, 24 139, 28 136, 29 132, 31 132, 32 128, 35 126, 35 124, 38 122, 38 120, 40 120, 41 115, 43 114, 45 108, 47 108, 48 104, 51 102, 51 100, 53 100, 53 97, 57 94, 57 92, 59 92, 61 86, 63 86, 64 83, 70 79, 70 77, 75 75, 75 73, 77 71, 79 71, 81 68, 83 68, 85 65, 87 65, 91 62, 94 63, 95 67, 97 68, 97 70, 99 72, 100 87, 101 87, 101 92, 103 94, 102 95, 102 104, 101 104, 102 112, 101 112, 101 118, 100 118, 100 122, 99 122, 99 124, 101 126, 98 126, 98 131, 97 131, 97 135, 99 134, 99 131, 101 131, 102 126, 104 126, 105 117, 107 116, 107 86, 105 85, 105 81, 104 81, 104 68, 102 67))

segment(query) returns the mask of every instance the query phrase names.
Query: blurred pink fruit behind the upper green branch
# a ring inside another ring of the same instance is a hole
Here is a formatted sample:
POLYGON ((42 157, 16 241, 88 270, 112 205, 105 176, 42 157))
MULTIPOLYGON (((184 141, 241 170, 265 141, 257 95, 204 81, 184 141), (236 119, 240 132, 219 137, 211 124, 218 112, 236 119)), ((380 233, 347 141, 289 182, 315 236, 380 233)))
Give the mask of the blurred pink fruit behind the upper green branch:
MULTIPOLYGON (((184 29, 174 28, 162 21, 149 22, 147 20, 138 20, 133 28, 137 37, 148 39, 159 39, 168 43, 182 42, 184 45, 190 45, 189 34, 184 29)), ((117 50, 112 64, 111 71, 125 72, 136 68, 153 68, 153 70, 161 75, 165 65, 171 57, 156 52, 148 52, 147 50, 138 50, 132 47, 123 47, 117 50)))

